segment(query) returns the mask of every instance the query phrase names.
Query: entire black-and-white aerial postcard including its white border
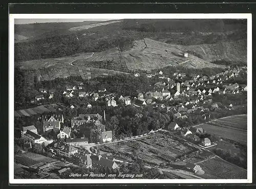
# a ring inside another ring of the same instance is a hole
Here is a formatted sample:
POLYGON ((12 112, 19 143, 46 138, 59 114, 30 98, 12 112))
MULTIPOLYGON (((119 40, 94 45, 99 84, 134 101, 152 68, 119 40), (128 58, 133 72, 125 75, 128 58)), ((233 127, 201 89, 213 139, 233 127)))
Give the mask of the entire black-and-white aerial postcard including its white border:
POLYGON ((251 33, 251 14, 10 15, 10 183, 251 183, 251 33))

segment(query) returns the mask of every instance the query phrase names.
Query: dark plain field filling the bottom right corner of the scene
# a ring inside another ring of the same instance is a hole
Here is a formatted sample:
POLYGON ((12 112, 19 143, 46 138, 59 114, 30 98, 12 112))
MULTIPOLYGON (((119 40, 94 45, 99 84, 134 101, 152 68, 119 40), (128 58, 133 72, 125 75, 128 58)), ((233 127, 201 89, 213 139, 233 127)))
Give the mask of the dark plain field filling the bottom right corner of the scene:
POLYGON ((201 175, 207 179, 246 179, 247 171, 235 166, 232 163, 224 161, 218 157, 198 163, 205 174, 201 175))

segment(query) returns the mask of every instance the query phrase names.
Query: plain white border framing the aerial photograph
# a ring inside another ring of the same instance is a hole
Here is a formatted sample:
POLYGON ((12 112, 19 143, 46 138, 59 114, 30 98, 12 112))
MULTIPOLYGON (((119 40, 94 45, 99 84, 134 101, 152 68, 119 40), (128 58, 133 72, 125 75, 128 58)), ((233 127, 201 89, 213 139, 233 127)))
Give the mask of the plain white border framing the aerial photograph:
POLYGON ((9 182, 68 183, 251 183, 252 182, 252 16, 251 14, 10 14, 9 15, 9 182), (247 19, 247 179, 14 179, 14 19, 247 19))

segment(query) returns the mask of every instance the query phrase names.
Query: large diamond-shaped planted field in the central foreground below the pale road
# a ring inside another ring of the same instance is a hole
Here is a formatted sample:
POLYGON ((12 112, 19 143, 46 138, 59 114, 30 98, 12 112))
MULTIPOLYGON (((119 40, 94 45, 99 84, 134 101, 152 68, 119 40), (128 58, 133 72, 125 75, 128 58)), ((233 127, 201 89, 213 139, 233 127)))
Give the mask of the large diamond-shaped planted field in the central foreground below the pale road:
MULTIPOLYGON (((157 133, 144 138, 121 141, 120 143, 98 146, 100 151, 126 160, 141 159, 147 164, 174 162, 198 148, 174 136, 157 133)), ((199 157, 198 157, 199 158, 199 157)), ((197 161, 200 161, 199 158, 197 161)))

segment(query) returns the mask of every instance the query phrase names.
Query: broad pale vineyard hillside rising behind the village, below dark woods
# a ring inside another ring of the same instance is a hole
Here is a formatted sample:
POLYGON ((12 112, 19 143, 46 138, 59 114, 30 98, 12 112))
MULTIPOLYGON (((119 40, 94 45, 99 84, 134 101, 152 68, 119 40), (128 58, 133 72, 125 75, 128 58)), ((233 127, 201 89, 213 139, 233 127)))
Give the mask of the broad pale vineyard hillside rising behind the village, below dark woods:
MULTIPOLYGON (((51 80, 69 76, 90 79, 109 74, 131 73, 133 70, 152 70, 165 66, 187 68, 221 67, 211 63, 219 59, 246 61, 242 49, 245 41, 224 42, 203 45, 174 45, 152 39, 136 40, 133 48, 120 52, 118 48, 95 53, 81 53, 74 56, 39 59, 15 63, 22 69, 34 70, 31 76, 40 80, 51 80), (184 52, 188 57, 184 57, 184 52), (200 58, 199 58, 200 57, 200 58), (36 71, 35 71, 36 70, 36 71)), ((246 63, 246 62, 244 62, 246 63)), ((31 80, 33 79, 31 77, 31 80)))

